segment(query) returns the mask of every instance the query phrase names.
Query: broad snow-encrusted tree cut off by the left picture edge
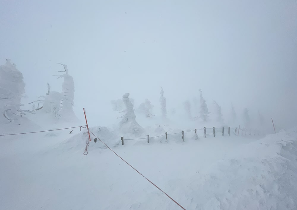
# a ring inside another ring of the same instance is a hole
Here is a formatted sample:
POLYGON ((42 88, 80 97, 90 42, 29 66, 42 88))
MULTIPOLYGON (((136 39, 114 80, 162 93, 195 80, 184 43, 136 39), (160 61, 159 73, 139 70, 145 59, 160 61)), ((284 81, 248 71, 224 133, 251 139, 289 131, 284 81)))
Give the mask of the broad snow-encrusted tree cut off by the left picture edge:
POLYGON ((21 114, 20 103, 25 93, 23 74, 9 59, 0 66, 0 112, 10 122, 21 114))

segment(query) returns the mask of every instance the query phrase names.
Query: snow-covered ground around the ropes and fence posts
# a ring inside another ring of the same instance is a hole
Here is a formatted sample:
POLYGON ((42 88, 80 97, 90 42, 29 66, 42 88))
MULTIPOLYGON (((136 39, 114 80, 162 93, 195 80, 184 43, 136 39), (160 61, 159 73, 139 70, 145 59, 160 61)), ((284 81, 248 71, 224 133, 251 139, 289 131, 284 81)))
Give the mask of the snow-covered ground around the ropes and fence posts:
MULTIPOLYGON (((182 122, 165 120, 159 126, 157 121, 144 126, 146 135, 181 131, 174 128, 182 122)), ((191 123, 188 130, 195 128, 191 123)), ((25 121, 1 125, 1 134, 80 125, 39 127, 25 121)), ((111 128, 90 130, 185 209, 297 208, 296 128, 266 136, 236 136, 233 131, 228 136, 225 130, 225 136, 215 138, 211 130, 204 138, 201 130, 198 140, 194 132, 186 132, 185 142, 176 134, 167 142, 165 137, 150 143, 124 140, 124 146, 122 134, 111 128)), ((1 136, 0 209, 180 209, 91 138, 84 156, 86 129, 1 136)))

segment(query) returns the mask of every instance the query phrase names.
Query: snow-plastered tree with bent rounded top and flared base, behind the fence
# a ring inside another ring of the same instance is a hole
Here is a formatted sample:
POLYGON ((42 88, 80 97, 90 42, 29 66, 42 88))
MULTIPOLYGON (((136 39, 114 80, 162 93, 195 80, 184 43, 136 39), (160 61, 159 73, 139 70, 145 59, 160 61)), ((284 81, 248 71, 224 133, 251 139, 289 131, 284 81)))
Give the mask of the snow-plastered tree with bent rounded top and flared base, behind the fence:
POLYGON ((140 134, 143 132, 143 128, 136 121, 136 115, 134 113, 133 104, 129 100, 129 95, 129 93, 123 95, 123 102, 126 106, 126 113, 123 116, 119 127, 123 132, 140 134))

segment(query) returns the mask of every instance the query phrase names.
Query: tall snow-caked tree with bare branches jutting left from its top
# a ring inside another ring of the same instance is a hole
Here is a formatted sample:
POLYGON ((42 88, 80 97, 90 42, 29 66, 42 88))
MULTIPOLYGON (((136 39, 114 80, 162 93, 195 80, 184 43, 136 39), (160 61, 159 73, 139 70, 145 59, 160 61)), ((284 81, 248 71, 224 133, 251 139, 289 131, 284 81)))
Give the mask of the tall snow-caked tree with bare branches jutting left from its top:
MULTIPOLYGON (((60 64, 60 63, 59 63, 60 64)), ((58 78, 64 78, 64 82, 62 84, 62 110, 61 114, 66 116, 75 116, 73 112, 73 105, 74 105, 74 81, 73 77, 68 74, 67 65, 61 64, 64 66, 63 75, 59 75, 58 78)))

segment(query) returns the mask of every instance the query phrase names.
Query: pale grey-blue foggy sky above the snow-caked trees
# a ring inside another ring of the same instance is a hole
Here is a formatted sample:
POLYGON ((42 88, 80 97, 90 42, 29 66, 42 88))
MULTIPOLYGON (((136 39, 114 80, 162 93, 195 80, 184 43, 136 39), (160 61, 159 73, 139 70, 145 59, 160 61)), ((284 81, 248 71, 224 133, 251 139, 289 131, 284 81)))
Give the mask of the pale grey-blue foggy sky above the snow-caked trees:
POLYGON ((61 91, 68 65, 75 113, 110 123, 110 100, 168 109, 199 97, 223 113, 259 110, 297 124, 297 1, 0 1, 0 64, 23 73, 26 100, 61 91))

